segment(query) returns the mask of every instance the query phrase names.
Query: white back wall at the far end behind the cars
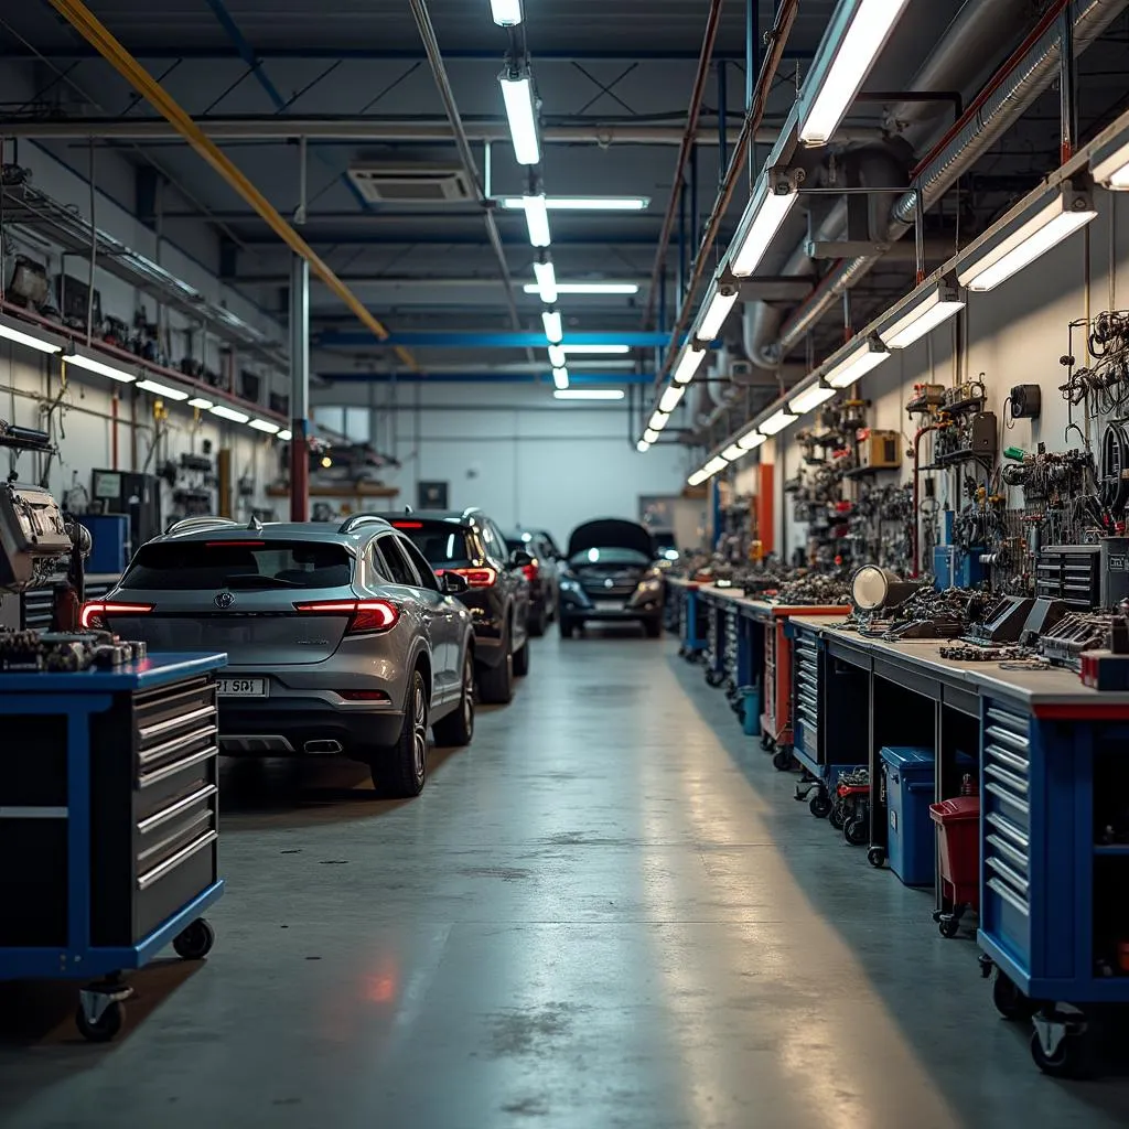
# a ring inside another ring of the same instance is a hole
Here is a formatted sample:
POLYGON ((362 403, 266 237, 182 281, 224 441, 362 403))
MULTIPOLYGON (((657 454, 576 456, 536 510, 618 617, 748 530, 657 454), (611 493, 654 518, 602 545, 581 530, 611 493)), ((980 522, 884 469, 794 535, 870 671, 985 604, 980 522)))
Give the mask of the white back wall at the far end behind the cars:
POLYGON ((544 385, 339 384, 313 402, 315 418, 318 404, 371 406, 376 448, 402 463, 383 475, 396 505, 415 505, 420 480, 448 482, 453 507, 558 541, 592 517, 638 519, 640 496, 681 495, 688 472, 674 444, 634 449, 625 402, 562 403, 544 385))

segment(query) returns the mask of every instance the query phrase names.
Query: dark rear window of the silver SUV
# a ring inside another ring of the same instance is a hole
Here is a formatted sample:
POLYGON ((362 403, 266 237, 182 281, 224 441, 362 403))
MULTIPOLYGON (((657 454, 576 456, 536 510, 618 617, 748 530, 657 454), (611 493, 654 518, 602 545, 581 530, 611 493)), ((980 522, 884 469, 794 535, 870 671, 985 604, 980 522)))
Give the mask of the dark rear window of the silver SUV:
POLYGON ((139 592, 198 588, 339 588, 352 562, 344 545, 318 541, 182 541, 143 545, 122 587, 139 592))

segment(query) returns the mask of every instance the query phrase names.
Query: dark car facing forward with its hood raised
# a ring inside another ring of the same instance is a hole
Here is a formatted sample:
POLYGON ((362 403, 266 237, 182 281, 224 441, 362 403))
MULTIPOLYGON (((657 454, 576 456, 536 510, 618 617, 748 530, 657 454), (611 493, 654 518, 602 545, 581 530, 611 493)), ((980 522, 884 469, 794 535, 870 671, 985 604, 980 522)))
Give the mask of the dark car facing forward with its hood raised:
POLYGON ((560 575, 560 629, 568 639, 589 620, 641 623, 657 638, 663 623, 663 576, 655 545, 638 522, 605 517, 578 525, 560 575))

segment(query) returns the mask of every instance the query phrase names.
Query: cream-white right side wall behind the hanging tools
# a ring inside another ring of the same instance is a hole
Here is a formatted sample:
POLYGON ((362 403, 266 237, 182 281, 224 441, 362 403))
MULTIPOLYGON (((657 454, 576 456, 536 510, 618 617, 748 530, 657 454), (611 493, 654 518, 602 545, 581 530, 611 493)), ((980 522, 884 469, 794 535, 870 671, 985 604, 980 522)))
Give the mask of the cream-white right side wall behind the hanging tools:
MULTIPOLYGON (((988 294, 970 294, 969 305, 961 315, 965 333, 961 358, 961 380, 982 379, 988 411, 994 411, 1000 425, 999 449, 1008 446, 1033 450, 1044 443, 1048 450, 1079 447, 1077 431, 1069 438, 1065 431, 1068 405, 1059 392, 1066 369, 1059 358, 1068 351, 1068 326, 1076 318, 1096 316, 1105 309, 1126 304, 1124 278, 1129 272, 1129 201, 1123 194, 1095 191, 1097 219, 1083 234, 1038 260, 1019 274, 988 294), (1087 273, 1088 240, 1088 273, 1087 273), (981 376, 981 374, 983 374, 981 376), (1038 384, 1042 390, 1042 413, 1038 420, 1016 420, 1014 429, 1004 427, 1005 399, 1014 385, 1038 384)), ((952 385, 956 383, 953 351, 956 321, 930 333, 909 349, 893 357, 855 386, 856 394, 872 401, 870 426, 900 431, 911 446, 916 422, 905 414, 904 405, 917 383, 952 385)), ((1074 356, 1086 364, 1085 334, 1075 331, 1074 356)), ((1074 418, 1080 419, 1079 410, 1074 418)), ((779 485, 796 474, 800 456, 793 436, 812 417, 805 417, 780 436, 784 469, 778 458, 779 485)), ((1089 439, 1096 446, 1101 438, 1101 421, 1089 426, 1089 439)), ((929 462, 930 437, 922 443, 922 462, 929 462)), ((768 445, 765 445, 768 446, 768 445)), ((912 464, 903 461, 901 480, 910 481, 912 464)), ((960 498, 948 497, 951 475, 936 475, 938 498, 954 508, 960 498)), ((778 487, 779 489, 779 487, 778 487)), ((779 497, 779 496, 778 496, 779 497)), ((1012 491, 1009 505, 1021 501, 1012 491)), ((789 551, 805 543, 804 527, 791 520, 788 506, 787 543, 789 551)))

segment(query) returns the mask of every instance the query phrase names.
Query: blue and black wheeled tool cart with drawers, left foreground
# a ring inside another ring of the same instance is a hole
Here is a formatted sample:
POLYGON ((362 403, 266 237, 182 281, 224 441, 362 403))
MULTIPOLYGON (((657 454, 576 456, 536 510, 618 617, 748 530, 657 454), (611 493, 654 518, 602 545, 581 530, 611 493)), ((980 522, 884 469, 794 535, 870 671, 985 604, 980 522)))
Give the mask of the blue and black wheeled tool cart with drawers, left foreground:
POLYGON ((226 662, 0 674, 0 980, 87 981, 87 1039, 121 1029, 124 971, 168 944, 186 960, 212 946, 226 662))

